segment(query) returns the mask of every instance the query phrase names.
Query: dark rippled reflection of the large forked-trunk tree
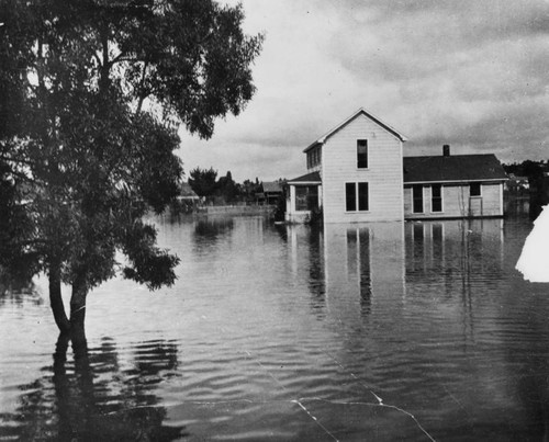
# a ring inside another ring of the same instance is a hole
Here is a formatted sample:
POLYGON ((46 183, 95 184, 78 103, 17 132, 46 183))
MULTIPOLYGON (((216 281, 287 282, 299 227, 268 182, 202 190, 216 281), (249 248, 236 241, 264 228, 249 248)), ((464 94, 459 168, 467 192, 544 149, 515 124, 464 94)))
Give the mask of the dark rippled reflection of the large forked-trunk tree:
POLYGON ((121 370, 111 339, 88 349, 83 332, 61 333, 54 364, 23 390, 13 416, 3 416, 0 439, 55 441, 171 441, 183 427, 164 423, 167 410, 155 387, 177 369, 177 345, 166 341, 139 344, 133 369, 121 370), (71 343, 74 358, 67 358, 71 343), (3 428, 2 428, 3 427, 3 428))

